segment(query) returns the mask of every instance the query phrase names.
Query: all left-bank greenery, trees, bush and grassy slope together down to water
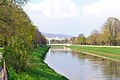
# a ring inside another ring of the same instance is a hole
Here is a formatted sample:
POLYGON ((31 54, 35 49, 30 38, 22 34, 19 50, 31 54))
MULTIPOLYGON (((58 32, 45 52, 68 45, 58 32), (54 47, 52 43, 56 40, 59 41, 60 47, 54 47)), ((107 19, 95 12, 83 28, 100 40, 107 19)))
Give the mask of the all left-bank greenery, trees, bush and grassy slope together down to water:
POLYGON ((43 46, 46 38, 22 8, 27 1, 0 1, 0 47, 8 79, 66 80, 43 62, 49 47, 43 46))

